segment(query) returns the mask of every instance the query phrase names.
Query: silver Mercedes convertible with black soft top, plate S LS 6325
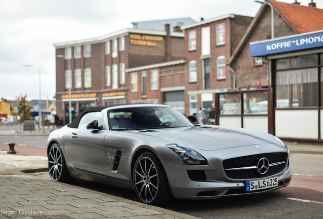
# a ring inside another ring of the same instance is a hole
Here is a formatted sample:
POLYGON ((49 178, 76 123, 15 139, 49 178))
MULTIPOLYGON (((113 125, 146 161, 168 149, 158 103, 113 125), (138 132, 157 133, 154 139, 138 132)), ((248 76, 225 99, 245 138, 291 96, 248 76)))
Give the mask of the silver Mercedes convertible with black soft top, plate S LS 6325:
POLYGON ((189 119, 159 104, 87 108, 50 133, 50 177, 133 189, 152 205, 262 194, 289 184, 290 154, 279 138, 189 119))

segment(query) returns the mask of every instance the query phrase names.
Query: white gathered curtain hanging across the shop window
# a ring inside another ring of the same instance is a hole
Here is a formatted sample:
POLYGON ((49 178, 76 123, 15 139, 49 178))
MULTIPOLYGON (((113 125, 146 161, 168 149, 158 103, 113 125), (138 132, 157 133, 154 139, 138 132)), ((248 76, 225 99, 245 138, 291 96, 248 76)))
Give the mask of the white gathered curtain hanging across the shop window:
MULTIPOLYGON (((321 69, 321 79, 323 70, 321 69)), ((276 85, 306 84, 317 82, 317 68, 277 71, 276 85)))

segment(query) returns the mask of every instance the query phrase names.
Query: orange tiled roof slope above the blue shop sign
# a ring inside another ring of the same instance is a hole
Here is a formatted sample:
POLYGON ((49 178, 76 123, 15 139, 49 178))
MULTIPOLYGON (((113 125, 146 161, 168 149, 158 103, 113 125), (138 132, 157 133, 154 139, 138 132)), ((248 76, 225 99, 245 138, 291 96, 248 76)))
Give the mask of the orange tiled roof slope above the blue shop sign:
POLYGON ((269 0, 299 33, 323 29, 323 9, 269 0))

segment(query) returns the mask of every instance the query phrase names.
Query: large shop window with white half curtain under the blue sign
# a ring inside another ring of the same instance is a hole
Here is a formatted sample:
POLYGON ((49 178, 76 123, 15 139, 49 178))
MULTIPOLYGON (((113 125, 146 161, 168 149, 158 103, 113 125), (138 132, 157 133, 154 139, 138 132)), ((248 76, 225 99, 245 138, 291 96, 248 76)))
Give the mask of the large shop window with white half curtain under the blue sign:
POLYGON ((317 54, 276 60, 277 108, 318 106, 317 64, 317 54))

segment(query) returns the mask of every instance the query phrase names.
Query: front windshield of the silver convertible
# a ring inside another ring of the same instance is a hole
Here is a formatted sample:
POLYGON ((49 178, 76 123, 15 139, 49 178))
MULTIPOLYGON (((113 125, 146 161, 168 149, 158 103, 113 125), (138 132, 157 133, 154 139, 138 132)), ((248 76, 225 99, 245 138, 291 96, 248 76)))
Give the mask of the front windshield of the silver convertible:
POLYGON ((110 130, 157 129, 194 126, 174 108, 146 106, 108 111, 110 130))

